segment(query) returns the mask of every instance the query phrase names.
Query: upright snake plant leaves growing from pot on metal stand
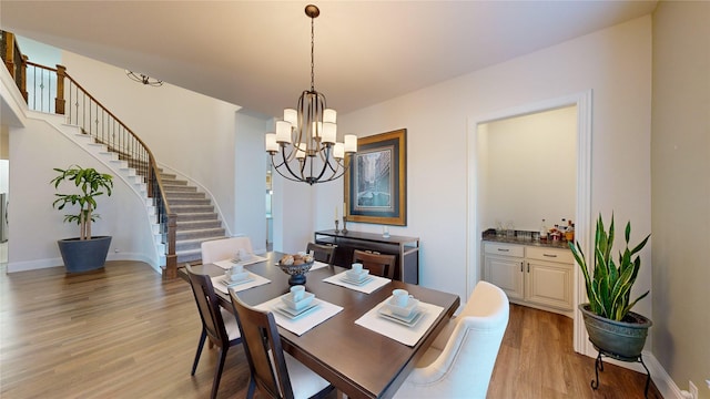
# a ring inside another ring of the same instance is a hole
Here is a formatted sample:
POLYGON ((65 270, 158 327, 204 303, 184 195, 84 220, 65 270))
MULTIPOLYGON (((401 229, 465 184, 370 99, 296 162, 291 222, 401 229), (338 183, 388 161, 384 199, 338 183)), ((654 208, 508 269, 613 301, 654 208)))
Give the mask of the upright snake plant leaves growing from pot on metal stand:
POLYGON ((592 272, 589 269, 579 243, 577 243, 577 246, 569 243, 572 255, 585 275, 590 310, 612 320, 622 320, 633 305, 649 293, 646 291, 633 301, 629 301, 631 287, 633 283, 636 283, 636 277, 641 267, 641 259, 636 254, 646 246, 646 243, 651 236, 649 234, 640 244, 633 247, 633 249, 629 249, 630 235, 631 222, 628 222, 625 234, 626 249, 619 252, 619 263, 617 265, 611 257, 611 246, 613 245, 615 238, 613 214, 611 215, 611 224, 609 225, 608 233, 605 231, 601 214, 599 215, 597 233, 595 235, 594 278, 590 275, 592 272), (636 257, 633 257, 635 255, 636 257))

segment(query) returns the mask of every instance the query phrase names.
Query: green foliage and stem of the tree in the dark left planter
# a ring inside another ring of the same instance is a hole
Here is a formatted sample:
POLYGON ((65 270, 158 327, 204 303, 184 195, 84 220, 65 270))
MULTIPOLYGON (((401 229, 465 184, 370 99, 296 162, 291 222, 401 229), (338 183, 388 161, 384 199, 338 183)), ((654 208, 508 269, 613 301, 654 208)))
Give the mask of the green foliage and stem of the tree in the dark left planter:
POLYGON ((106 196, 111 196, 113 176, 99 173, 93 167, 84 168, 79 165, 71 165, 65 170, 54 167, 54 172, 59 173, 50 182, 50 184, 54 185, 54 188, 59 190, 59 185, 62 182, 69 181, 73 182, 81 193, 54 194, 58 198, 54 200, 52 206, 61 211, 67 205, 78 204, 79 213, 64 215, 64 222, 75 222, 79 225, 80 239, 91 239, 91 223, 100 217, 99 214, 94 213, 97 209, 95 197, 103 195, 104 191, 106 196))

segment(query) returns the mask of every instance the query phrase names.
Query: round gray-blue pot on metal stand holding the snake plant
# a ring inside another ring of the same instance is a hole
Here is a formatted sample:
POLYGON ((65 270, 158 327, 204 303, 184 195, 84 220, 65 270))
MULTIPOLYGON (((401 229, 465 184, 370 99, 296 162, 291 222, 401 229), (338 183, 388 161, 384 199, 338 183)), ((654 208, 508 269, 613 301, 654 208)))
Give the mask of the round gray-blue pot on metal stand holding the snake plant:
POLYGON ((636 360, 643 350, 646 336, 652 323, 648 318, 629 311, 623 321, 598 316, 589 310, 589 304, 580 304, 585 326, 591 344, 619 360, 636 360))

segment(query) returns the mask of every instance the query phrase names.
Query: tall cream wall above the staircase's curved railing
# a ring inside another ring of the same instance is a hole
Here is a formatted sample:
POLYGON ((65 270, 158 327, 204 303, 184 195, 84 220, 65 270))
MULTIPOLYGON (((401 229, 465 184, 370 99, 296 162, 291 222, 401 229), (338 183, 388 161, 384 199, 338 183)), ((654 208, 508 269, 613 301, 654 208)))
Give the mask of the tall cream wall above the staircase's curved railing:
POLYGON ((62 64, 141 137, 159 164, 207 190, 231 232, 244 231, 236 224, 234 208, 237 105, 168 83, 143 85, 121 68, 71 52, 63 52, 62 64))

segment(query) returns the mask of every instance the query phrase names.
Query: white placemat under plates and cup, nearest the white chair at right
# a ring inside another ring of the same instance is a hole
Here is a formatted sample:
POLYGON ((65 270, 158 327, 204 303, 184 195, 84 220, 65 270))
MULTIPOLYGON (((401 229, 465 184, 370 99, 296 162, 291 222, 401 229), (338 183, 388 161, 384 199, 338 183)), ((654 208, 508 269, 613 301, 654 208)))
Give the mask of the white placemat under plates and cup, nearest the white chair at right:
POLYGON ((364 314, 361 318, 355 320, 355 324, 408 346, 416 345, 424 336, 424 332, 426 332, 432 324, 434 324, 434 320, 438 315, 444 311, 444 308, 440 306, 420 301, 417 308, 424 314, 413 327, 409 327, 389 320, 378 314, 379 308, 385 306, 387 300, 389 300, 389 298, 379 303, 377 306, 364 314))

